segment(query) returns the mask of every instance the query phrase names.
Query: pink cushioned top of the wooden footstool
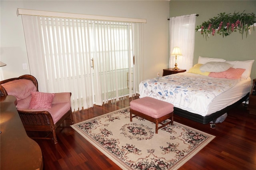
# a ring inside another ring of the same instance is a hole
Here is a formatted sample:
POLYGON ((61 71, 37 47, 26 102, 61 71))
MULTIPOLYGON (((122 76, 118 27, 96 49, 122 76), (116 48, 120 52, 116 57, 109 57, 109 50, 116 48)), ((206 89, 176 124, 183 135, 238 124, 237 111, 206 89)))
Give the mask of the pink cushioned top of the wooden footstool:
POLYGON ((160 118, 173 112, 173 104, 151 97, 139 98, 130 102, 130 108, 152 118, 160 118))

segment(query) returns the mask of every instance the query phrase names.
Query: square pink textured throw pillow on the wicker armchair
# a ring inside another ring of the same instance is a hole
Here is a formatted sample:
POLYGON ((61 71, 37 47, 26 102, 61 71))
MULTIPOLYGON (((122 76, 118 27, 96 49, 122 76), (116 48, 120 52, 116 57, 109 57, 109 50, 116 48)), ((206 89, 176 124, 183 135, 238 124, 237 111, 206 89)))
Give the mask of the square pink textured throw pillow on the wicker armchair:
POLYGON ((54 93, 31 92, 30 109, 50 109, 54 93))

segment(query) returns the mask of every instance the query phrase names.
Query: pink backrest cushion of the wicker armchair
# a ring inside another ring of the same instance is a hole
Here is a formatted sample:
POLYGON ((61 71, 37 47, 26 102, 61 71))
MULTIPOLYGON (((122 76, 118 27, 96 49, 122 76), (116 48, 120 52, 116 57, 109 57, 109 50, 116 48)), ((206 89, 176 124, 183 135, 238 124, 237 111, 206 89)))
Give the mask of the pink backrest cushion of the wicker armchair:
POLYGON ((31 92, 36 92, 36 86, 31 80, 19 79, 2 84, 8 95, 15 96, 17 101, 27 98, 31 92))

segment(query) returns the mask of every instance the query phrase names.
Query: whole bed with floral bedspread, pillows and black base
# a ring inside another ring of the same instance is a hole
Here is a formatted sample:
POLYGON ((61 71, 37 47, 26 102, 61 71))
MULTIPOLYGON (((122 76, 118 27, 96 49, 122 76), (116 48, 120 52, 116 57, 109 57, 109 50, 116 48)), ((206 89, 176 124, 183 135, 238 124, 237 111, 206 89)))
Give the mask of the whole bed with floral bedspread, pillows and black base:
POLYGON ((187 72, 140 82, 140 98, 170 102, 174 114, 208 124, 248 98, 253 62, 200 56, 187 72))

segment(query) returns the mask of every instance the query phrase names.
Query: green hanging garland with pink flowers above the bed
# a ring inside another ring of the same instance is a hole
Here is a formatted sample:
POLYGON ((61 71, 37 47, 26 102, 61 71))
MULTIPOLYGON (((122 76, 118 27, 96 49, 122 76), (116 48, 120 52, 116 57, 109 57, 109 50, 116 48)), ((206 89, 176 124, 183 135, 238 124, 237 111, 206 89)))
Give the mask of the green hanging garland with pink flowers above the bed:
MULTIPOLYGON (((246 14, 244 12, 234 12, 234 14, 226 14, 225 12, 218 14, 218 16, 210 18, 208 21, 203 22, 202 25, 196 26, 196 31, 200 31, 206 40, 210 35, 214 36, 220 34, 223 37, 229 36, 232 32, 239 32, 248 34, 248 31, 256 23, 256 16, 254 13, 246 14)), ((254 27, 253 27, 254 29, 254 27)))

